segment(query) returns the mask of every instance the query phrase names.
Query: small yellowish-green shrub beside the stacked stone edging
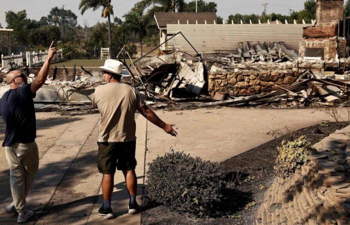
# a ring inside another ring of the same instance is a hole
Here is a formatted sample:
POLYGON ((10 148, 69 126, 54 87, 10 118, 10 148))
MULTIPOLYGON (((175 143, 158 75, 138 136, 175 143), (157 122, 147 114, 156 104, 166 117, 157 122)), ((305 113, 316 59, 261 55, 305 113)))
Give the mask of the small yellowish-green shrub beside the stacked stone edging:
POLYGON ((278 176, 286 177, 295 172, 303 165, 307 156, 314 152, 311 143, 304 136, 293 141, 282 140, 281 146, 277 147, 279 154, 276 158, 274 170, 278 176))

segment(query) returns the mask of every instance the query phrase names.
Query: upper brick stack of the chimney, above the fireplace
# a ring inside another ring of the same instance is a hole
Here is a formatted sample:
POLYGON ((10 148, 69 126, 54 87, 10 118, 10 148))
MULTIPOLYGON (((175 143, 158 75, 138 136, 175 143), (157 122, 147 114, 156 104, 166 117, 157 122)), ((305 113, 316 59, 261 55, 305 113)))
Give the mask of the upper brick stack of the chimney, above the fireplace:
POLYGON ((343 18, 344 0, 317 0, 316 21, 318 26, 331 26, 343 18))

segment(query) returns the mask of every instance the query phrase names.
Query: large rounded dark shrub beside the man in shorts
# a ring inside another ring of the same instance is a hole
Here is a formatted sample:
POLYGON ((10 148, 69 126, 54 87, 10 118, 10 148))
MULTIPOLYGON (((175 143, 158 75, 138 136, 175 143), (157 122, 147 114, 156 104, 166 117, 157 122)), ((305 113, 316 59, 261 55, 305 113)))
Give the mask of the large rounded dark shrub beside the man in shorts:
POLYGON ((149 200, 199 216, 215 213, 225 188, 224 174, 217 163, 172 150, 148 165, 149 200))

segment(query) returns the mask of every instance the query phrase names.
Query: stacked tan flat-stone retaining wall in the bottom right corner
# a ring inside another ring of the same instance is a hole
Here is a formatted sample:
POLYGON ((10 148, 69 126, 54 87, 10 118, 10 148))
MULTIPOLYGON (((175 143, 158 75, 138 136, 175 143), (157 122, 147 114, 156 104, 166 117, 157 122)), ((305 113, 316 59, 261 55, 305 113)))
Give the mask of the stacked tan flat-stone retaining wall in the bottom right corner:
MULTIPOLYGON (((275 178, 256 214, 259 224, 350 224, 350 183, 345 177, 349 126, 314 147, 318 154, 294 175, 275 178)), ((347 158, 349 157, 349 158, 347 158)))

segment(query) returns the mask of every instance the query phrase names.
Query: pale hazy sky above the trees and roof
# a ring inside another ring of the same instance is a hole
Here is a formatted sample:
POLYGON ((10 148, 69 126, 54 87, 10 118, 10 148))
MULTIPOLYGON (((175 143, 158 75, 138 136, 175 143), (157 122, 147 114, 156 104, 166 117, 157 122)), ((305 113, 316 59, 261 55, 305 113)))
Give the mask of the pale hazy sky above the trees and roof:
MULTIPOLYGON (((138 0, 112 0, 115 16, 121 17, 125 12, 130 10, 138 0)), ((206 0, 210 1, 210 0, 206 0)), ((305 0, 211 0, 217 3, 217 15, 227 18, 230 14, 235 13, 258 13, 263 10, 262 3, 268 3, 267 13, 278 12, 288 14, 289 8, 300 10, 303 8, 305 0)), ((78 23, 83 25, 93 25, 97 21, 104 21, 101 18, 101 9, 96 11, 88 10, 83 15, 78 10, 79 0, 0 0, 0 23, 5 26, 5 11, 19 11, 25 9, 31 19, 40 19, 41 16, 47 15, 52 7, 58 6, 72 10, 78 16, 78 23)))

